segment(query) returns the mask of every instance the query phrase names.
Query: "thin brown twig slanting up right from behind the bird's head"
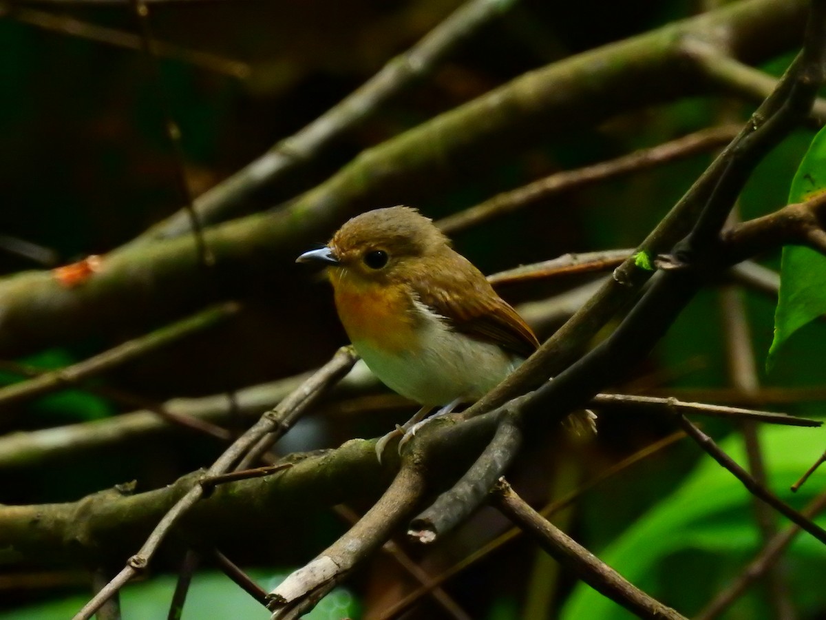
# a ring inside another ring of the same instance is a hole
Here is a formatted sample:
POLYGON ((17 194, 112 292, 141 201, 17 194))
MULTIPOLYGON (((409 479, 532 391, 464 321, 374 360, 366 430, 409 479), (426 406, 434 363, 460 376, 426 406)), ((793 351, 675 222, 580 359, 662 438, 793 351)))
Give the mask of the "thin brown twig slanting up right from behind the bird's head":
POLYGON ((541 200, 547 200, 559 193, 714 150, 716 147, 728 144, 734 136, 737 136, 738 131, 739 127, 733 125, 711 127, 650 149, 634 151, 615 160, 551 174, 525 187, 500 193, 476 207, 470 207, 436 223, 447 234, 463 231, 468 227, 487 222, 493 217, 501 217, 541 200))

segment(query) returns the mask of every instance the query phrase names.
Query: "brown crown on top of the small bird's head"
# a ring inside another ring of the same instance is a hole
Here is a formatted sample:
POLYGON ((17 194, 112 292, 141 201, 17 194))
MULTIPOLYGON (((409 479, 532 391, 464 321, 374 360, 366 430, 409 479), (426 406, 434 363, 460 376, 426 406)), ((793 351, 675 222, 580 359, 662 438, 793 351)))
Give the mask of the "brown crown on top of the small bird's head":
POLYGON ((330 250, 342 263, 352 264, 371 252, 385 252, 388 260, 394 260, 434 254, 449 244, 429 217, 413 207, 400 206, 375 209, 349 220, 333 236, 330 250))

